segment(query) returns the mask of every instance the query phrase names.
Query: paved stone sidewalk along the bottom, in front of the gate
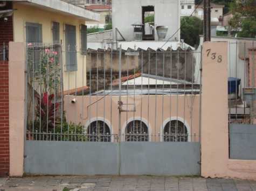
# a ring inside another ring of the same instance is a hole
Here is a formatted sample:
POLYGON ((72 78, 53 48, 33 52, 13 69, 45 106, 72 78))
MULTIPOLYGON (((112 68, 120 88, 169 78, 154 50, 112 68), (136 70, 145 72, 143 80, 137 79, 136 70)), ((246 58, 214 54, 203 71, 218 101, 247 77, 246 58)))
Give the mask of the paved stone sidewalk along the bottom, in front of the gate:
POLYGON ((255 190, 256 181, 154 176, 57 176, 0 179, 1 191, 255 190))

